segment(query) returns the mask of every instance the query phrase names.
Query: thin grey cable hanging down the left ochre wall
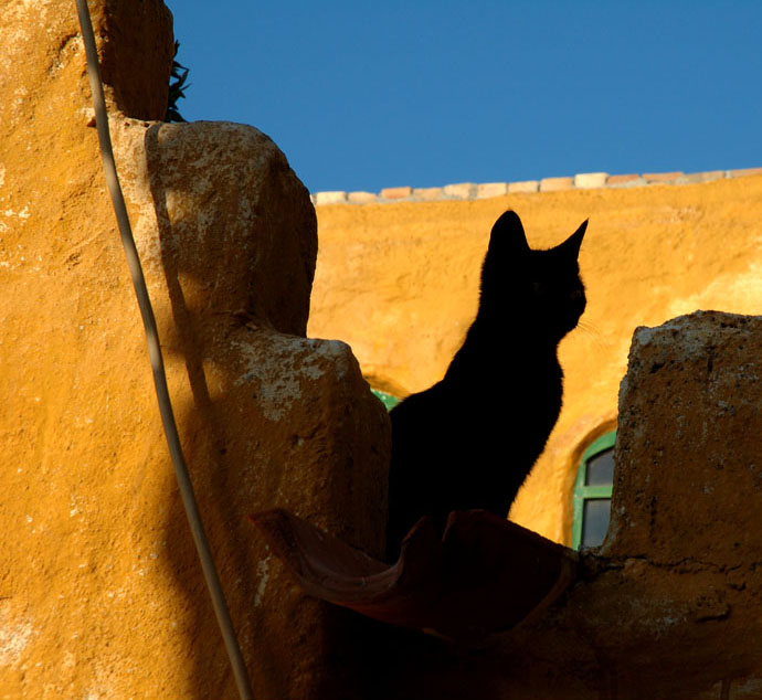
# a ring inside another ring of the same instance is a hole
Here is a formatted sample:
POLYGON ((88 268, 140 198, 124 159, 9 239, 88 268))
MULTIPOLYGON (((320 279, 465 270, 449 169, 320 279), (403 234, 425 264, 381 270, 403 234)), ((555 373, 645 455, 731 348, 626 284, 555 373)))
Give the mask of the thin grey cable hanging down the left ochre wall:
POLYGON ((216 615, 222 638, 224 639, 230 657, 231 666, 233 667, 233 675, 235 676, 235 683, 239 688, 239 694, 242 700, 253 700, 252 686, 246 671, 246 666, 241 654, 233 622, 230 617, 225 595, 222 591, 220 576, 218 575, 212 552, 209 547, 209 540, 203 529, 201 515, 193 494, 193 485, 188 475, 188 466, 182 454, 180 445, 180 436, 178 435, 177 424, 174 423, 174 415, 172 413, 172 404, 169 399, 169 390, 167 389, 167 375, 165 373, 163 359, 161 357, 161 348, 159 346, 159 333, 156 327, 156 319, 154 317, 154 309, 151 308, 150 298, 148 297, 148 288, 146 287, 146 279, 142 275, 140 266, 140 258, 133 238, 133 230, 127 216, 127 206, 125 205, 125 198, 121 193, 119 179, 116 173, 116 163, 114 161, 114 150, 112 148, 112 138, 108 129, 108 115, 106 113, 106 100, 103 94, 103 83, 100 82, 100 70, 98 67, 98 54, 95 46, 95 35, 93 33, 93 24, 91 22, 89 10, 87 8, 87 0, 75 0, 77 14, 80 15, 80 26, 82 29, 82 38, 85 42, 85 53, 87 55, 87 74, 89 76, 89 86, 93 93, 93 105, 95 107, 95 123, 98 129, 98 141, 100 144, 100 156, 103 158, 104 171, 106 174, 106 184, 112 197, 114 211, 116 213, 119 232, 121 234, 121 245, 125 248, 127 256, 127 265, 129 274, 133 277, 133 285, 135 294, 138 298, 138 306, 140 307, 140 315, 142 316, 142 324, 146 331, 146 342, 148 344, 148 356, 151 361, 151 369, 154 370, 154 384, 159 401, 159 411, 161 413, 161 422, 167 436, 169 445, 169 453, 172 457, 172 465, 174 466, 174 476, 180 486, 180 494, 182 502, 188 516, 188 522, 193 534, 195 549, 201 560, 201 568, 207 581, 207 587, 212 598, 214 613, 216 615))

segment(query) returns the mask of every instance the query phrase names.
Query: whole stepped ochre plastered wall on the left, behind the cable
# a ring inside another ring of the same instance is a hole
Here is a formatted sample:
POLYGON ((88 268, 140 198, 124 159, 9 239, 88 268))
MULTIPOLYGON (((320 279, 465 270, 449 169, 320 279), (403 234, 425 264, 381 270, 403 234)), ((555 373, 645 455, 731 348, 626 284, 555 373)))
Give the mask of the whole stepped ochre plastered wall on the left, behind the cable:
MULTIPOLYGON (((163 6, 131 4, 95 3, 98 36, 129 26, 138 47, 162 32, 171 46, 169 25, 130 24, 134 13, 165 17, 163 6)), ((12 533, 2 544, 0 696, 232 698, 86 126, 76 15, 63 0, 24 8, 0 13, 13 38, 0 65, 14 66, 12 83, 0 70, 0 527, 12 533)), ((171 53, 125 65, 121 31, 102 46, 117 56, 112 106, 154 114, 158 88, 141 103, 119 81, 133 72, 150 93, 157 74, 166 89, 171 53)), ((340 613, 305 598, 245 521, 283 506, 369 552, 383 548, 385 411, 348 346, 304 338, 317 248, 309 194, 251 127, 118 112, 110 126, 255 696, 341 697, 351 669, 329 662, 340 613)))

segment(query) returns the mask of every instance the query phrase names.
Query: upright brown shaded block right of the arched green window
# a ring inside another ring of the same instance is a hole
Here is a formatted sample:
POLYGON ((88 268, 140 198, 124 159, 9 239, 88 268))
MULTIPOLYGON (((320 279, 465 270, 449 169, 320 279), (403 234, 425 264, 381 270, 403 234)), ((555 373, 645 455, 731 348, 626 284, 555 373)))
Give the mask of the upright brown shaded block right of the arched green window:
POLYGON ((762 561, 762 317, 638 328, 620 391, 610 555, 762 561))

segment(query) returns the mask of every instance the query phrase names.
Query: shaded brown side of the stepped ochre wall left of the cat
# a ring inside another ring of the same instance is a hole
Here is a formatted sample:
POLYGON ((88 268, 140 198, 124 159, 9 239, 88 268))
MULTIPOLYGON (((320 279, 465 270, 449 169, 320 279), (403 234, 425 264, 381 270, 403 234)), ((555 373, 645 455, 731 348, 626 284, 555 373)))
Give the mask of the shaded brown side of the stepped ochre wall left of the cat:
MULTIPOLYGON (((305 338, 317 254, 309 195, 252 127, 151 126, 145 149, 160 247, 146 256, 147 278, 157 299, 168 289, 157 320, 170 391, 182 396, 183 448, 255 696, 341 697, 359 654, 346 613, 304 596, 245 519, 287 507, 354 547, 383 550, 388 415, 348 346, 305 338)), ((156 507, 184 598, 179 666, 199 700, 233 697, 181 500, 168 487, 171 498, 156 507)))

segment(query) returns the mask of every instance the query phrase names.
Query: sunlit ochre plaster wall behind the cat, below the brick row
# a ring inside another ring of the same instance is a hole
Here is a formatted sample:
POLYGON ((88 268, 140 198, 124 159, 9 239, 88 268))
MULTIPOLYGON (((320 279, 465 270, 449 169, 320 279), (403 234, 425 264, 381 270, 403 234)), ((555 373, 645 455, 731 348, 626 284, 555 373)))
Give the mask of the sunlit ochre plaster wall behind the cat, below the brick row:
MULTIPOLYGON (((532 247, 555 245, 590 218, 580 256, 588 309, 560 349, 564 406, 510 513, 569 544, 578 463, 616 424, 635 328, 697 309, 762 314, 762 177, 318 206, 308 335, 349 342, 378 389, 404 396, 438 381, 476 312, 489 231, 506 209, 532 247)), ((505 322, 521 342, 508 314, 505 322)))

